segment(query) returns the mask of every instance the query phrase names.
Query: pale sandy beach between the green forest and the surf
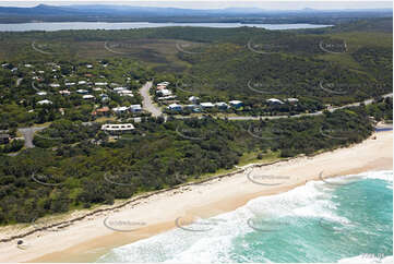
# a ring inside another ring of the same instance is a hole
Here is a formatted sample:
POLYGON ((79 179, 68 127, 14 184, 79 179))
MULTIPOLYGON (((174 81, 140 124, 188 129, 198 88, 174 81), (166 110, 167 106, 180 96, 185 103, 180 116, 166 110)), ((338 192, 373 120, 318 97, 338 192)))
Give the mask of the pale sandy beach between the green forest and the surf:
MULTIPOLYGON (((0 242, 0 262, 92 262, 115 247, 175 228, 179 219, 187 223, 234 211, 254 197, 285 192, 310 180, 392 169, 393 132, 380 132, 348 148, 268 166, 248 165, 229 177, 151 195, 60 230, 34 232, 23 238, 23 249, 16 247, 17 239, 0 242)), ((73 212, 69 217, 86 212, 73 212)), ((9 238, 32 230, 28 228, 4 227, 0 236, 9 238)))

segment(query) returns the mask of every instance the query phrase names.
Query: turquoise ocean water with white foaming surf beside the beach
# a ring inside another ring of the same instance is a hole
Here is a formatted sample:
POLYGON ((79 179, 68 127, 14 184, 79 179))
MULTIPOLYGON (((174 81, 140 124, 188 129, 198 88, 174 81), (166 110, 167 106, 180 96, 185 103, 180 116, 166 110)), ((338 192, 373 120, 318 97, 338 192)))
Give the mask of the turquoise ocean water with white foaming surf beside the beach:
POLYGON ((98 262, 391 262, 392 179, 378 171, 308 182, 114 249, 98 262))

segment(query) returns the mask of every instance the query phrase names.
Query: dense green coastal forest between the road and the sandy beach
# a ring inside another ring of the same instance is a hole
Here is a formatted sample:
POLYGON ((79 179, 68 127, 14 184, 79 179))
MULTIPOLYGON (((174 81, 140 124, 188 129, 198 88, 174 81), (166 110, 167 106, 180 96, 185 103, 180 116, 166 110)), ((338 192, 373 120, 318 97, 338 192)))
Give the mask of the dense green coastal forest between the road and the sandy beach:
POLYGON ((373 131, 369 115, 380 120, 392 115, 392 107, 389 98, 368 108, 253 122, 147 118, 117 141, 97 125, 59 121, 36 135, 40 147, 1 156, 0 223, 111 204, 230 169, 251 153, 258 159, 272 153, 292 157, 358 143, 373 131))

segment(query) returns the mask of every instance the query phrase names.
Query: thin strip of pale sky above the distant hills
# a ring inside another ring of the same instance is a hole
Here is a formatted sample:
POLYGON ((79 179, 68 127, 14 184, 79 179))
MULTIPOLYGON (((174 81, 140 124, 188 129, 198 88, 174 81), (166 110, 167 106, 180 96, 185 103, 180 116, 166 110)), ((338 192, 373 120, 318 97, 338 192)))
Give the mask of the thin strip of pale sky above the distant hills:
POLYGON ((223 0, 182 0, 182 1, 133 1, 133 0, 13 0, 3 1, 0 0, 0 7, 35 7, 37 4, 45 3, 51 5, 69 5, 69 4, 127 4, 134 7, 172 7, 183 9, 224 9, 224 8, 261 8, 265 10, 299 10, 305 8, 311 8, 317 10, 329 10, 329 9, 386 9, 393 8, 392 1, 322 1, 322 0, 310 0, 310 1, 267 1, 267 0, 243 0, 243 1, 223 1, 223 0))

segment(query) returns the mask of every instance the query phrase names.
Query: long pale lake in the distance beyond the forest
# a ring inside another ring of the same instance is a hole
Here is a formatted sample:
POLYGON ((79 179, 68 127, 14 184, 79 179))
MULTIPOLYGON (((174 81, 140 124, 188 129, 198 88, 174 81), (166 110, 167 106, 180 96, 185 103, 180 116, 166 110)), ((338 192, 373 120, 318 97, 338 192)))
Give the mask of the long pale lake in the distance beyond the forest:
POLYGON ((299 28, 320 28, 332 25, 313 24, 241 24, 241 23, 150 23, 150 22, 127 22, 127 23, 106 23, 106 22, 40 22, 40 23, 20 23, 20 24, 0 24, 0 32, 28 32, 28 31, 68 31, 68 29, 130 29, 130 28, 150 28, 165 26, 203 26, 230 28, 241 26, 254 26, 272 31, 279 29, 299 29, 299 28))

